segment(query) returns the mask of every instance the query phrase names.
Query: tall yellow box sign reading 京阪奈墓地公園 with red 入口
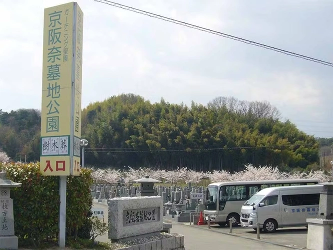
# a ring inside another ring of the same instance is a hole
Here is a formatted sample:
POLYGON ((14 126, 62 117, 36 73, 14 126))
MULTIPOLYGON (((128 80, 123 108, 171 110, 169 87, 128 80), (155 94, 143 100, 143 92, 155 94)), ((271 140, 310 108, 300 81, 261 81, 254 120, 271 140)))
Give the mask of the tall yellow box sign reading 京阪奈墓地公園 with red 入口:
POLYGON ((76 2, 44 9, 40 171, 79 175, 83 13, 76 2))

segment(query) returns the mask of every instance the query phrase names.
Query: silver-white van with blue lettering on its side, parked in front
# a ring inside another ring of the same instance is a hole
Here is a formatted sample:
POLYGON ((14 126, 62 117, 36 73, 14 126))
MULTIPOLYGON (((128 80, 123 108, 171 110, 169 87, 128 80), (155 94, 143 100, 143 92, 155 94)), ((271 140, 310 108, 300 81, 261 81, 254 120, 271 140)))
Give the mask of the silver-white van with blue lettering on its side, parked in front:
POLYGON ((241 226, 266 232, 278 227, 307 226, 318 215, 321 184, 268 187, 253 195, 241 210, 241 226))

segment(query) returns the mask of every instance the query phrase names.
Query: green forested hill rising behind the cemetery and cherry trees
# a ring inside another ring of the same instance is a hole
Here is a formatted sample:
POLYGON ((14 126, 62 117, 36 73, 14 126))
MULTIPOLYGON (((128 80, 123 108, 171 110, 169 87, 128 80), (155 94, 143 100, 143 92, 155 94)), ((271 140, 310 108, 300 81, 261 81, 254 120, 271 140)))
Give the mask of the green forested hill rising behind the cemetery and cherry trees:
MULTIPOLYGON (((233 171, 244 163, 305 168, 318 162, 317 140, 279 115, 268 102, 232 97, 186 106, 112 96, 82 111, 85 163, 233 171)), ((38 160, 39 130, 38 110, 0 110, 0 147, 11 158, 38 160)))

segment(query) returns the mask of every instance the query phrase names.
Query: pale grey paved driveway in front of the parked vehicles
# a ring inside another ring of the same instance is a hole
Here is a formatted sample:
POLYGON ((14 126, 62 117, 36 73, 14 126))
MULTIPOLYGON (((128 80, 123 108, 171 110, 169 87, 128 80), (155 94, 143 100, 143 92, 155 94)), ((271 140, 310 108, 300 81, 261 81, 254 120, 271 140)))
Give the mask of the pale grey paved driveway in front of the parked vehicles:
MULTIPOLYGON (((107 216, 106 204, 94 202, 93 207, 103 209, 104 214, 107 216)), ((104 221, 107 222, 107 217, 104 218, 104 221)), ((189 223, 172 223, 172 229, 170 232, 185 235, 186 250, 201 250, 208 248, 220 249, 221 246, 223 246, 223 249, 232 250, 242 248, 275 250, 288 249, 287 247, 283 247, 283 245, 292 246, 298 249, 307 246, 307 229, 305 227, 282 228, 278 229, 275 233, 261 232, 260 240, 256 239, 257 234, 255 230, 240 226, 234 227, 233 235, 230 235, 229 227, 227 226, 212 225, 211 229, 208 229, 207 225, 190 226, 189 223)), ((97 240, 108 241, 109 239, 107 234, 105 234, 99 236, 97 240)))

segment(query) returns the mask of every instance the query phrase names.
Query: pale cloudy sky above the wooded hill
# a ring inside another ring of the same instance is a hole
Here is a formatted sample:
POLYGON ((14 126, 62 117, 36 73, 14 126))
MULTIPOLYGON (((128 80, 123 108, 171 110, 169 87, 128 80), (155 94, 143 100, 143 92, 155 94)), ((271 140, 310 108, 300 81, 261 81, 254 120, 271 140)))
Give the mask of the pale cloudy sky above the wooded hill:
MULTIPOLYGON (((41 108, 43 9, 0 0, 0 109, 41 108)), ((206 105, 269 101, 308 134, 333 137, 333 67, 94 0, 84 13, 82 107, 121 93, 206 105)), ((333 62, 332 0, 117 0, 118 3, 333 62)))

